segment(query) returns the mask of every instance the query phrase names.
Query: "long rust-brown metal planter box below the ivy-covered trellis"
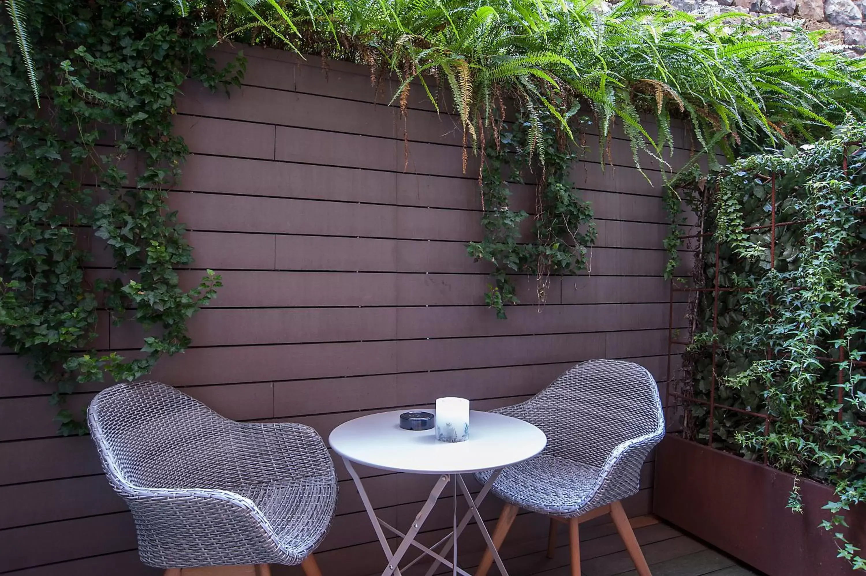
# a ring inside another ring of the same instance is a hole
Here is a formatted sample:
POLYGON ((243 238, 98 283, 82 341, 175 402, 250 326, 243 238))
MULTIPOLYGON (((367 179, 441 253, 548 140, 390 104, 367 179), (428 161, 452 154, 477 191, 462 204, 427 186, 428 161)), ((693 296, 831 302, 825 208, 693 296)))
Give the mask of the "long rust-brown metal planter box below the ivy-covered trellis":
MULTIPOLYGON (((785 508, 794 476, 666 437, 656 452, 653 512, 770 576, 852 576, 837 558, 830 532, 818 525, 832 489, 800 481, 804 513, 785 508)), ((866 509, 846 514, 848 539, 866 543, 866 509)), ((861 552, 863 553, 863 551, 861 552)))

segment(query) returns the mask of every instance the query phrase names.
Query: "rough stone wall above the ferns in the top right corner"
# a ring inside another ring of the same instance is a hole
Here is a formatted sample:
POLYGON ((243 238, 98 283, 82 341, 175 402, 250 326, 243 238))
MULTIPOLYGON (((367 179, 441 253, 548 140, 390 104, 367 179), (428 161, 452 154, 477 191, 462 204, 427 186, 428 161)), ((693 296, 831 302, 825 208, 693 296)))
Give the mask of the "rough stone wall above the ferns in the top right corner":
POLYGON ((866 48, 866 0, 670 0, 678 10, 713 15, 749 12, 755 16, 776 15, 780 22, 804 22, 806 29, 829 29, 825 39, 866 48))

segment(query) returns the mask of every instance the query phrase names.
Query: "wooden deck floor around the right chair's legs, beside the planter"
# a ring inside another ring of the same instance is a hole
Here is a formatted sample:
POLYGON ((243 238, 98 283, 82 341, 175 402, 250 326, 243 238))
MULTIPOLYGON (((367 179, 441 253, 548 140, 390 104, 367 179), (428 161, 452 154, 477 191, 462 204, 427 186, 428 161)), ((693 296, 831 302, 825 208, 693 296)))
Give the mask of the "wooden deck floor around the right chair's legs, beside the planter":
MULTIPOLYGON (((655 518, 644 516, 632 523, 652 576, 759 576, 655 518)), ((510 576, 570 576, 568 547, 563 542, 565 532, 559 540, 562 545, 553 559, 548 559, 545 553, 532 553, 506 560, 510 576)), ((580 563, 582 576, 637 576, 628 553, 617 540, 617 534, 610 534, 581 541, 581 552, 586 551, 580 563)), ((491 570, 493 573, 495 568, 491 570)))

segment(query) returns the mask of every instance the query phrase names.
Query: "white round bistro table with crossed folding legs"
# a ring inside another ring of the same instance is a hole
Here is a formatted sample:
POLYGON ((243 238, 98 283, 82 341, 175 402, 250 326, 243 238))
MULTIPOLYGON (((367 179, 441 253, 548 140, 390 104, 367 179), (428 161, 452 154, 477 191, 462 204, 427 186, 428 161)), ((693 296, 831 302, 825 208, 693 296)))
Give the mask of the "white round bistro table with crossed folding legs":
MULTIPOLYGON (((430 411, 435 413, 433 410, 430 411)), ((349 474, 358 488, 358 494, 361 501, 364 502, 367 515, 370 516, 373 530, 375 530, 379 543, 385 552, 388 566, 382 572, 382 576, 391 576, 391 574, 400 576, 399 563, 403 560, 410 546, 417 547, 422 553, 407 566, 404 566, 404 570, 427 555, 435 560, 427 572, 428 576, 436 570, 436 566, 440 562, 449 566, 455 575, 459 573, 462 576, 472 576, 457 566, 456 540, 473 517, 481 530, 481 535, 493 553, 500 573, 502 576, 507 576, 505 566, 502 565, 502 560, 493 545, 493 540, 491 540, 487 527, 484 526, 484 521, 481 520, 481 515, 478 513, 478 507, 488 495, 490 487, 493 486, 501 469, 511 464, 523 462, 544 450, 547 443, 544 432, 533 424, 517 418, 491 412, 471 411, 469 413, 469 440, 459 443, 445 443, 436 440, 435 428, 433 430, 403 430, 400 428, 401 412, 404 411, 381 412, 355 418, 345 424, 340 424, 331 432, 329 437, 331 448, 339 456, 342 456, 343 462, 346 463, 346 469, 349 470, 349 474), (440 477, 430 491, 427 502, 424 502, 421 511, 412 522, 412 526, 404 534, 378 518, 352 463, 394 472, 436 474, 440 477), (473 499, 461 475, 490 469, 494 470, 493 475, 473 499), (459 487, 469 504, 469 511, 458 524, 455 506, 452 532, 433 546, 425 547, 415 541, 415 537, 423 527, 424 521, 427 520, 433 505, 448 482, 454 482, 455 502, 459 487), (383 527, 403 539, 396 551, 391 551, 383 527), (436 553, 435 549, 440 545, 444 545, 442 551, 436 553), (451 560, 445 558, 449 550, 453 550, 451 560)))

